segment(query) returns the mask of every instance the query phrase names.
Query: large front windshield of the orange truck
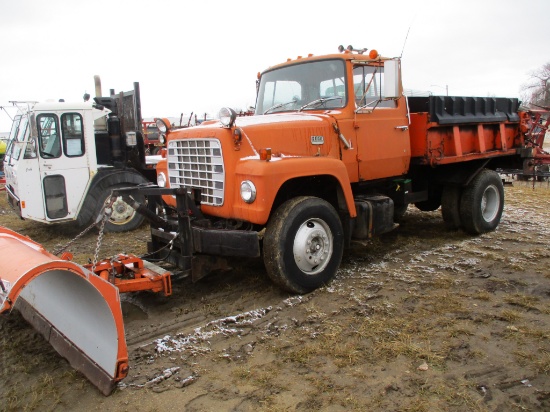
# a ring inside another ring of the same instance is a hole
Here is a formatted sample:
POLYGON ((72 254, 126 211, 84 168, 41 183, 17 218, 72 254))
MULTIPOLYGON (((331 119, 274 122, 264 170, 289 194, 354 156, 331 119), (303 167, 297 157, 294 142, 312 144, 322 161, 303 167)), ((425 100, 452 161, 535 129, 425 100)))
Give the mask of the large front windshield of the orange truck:
POLYGON ((256 114, 342 108, 346 71, 340 59, 286 66, 262 75, 256 114))

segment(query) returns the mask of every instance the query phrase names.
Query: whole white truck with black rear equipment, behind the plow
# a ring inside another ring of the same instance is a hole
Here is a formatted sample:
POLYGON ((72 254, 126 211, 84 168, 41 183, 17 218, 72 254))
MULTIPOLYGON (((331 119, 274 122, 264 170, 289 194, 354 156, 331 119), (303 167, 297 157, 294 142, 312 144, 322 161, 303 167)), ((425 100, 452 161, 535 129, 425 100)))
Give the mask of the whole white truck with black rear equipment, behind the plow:
POLYGON ((32 103, 20 110, 4 171, 8 200, 21 218, 76 221, 84 228, 111 203, 107 230, 139 226, 142 216, 122 199, 110 199, 116 188, 154 180, 153 165, 145 162, 141 120, 136 120, 136 90, 93 102, 32 103))

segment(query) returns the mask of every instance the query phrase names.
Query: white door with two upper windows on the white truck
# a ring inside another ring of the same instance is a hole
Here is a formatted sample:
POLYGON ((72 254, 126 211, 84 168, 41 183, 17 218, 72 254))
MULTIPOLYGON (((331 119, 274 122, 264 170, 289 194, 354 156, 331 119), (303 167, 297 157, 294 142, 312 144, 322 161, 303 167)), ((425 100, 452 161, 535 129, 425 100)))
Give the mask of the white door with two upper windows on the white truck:
POLYGON ((84 114, 40 113, 36 125, 46 221, 75 219, 90 179, 84 114))

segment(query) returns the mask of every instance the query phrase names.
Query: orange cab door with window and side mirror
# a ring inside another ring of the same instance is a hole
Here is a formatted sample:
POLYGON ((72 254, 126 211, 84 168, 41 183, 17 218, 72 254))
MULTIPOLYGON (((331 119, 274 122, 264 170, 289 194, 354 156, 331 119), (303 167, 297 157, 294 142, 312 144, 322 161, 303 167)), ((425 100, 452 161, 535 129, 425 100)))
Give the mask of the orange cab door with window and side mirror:
POLYGON ((359 180, 400 176, 409 169, 406 102, 385 96, 384 66, 353 68, 359 180))

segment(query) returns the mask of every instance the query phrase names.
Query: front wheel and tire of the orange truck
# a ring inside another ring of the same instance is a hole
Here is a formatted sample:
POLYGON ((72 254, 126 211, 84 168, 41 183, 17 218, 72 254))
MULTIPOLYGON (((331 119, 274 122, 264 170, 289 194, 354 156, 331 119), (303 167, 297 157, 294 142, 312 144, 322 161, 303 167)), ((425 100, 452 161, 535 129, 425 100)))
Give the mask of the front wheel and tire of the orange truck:
POLYGON ((293 293, 308 293, 328 283, 336 275, 343 250, 338 213, 316 197, 283 203, 269 220, 263 240, 267 274, 293 293))

